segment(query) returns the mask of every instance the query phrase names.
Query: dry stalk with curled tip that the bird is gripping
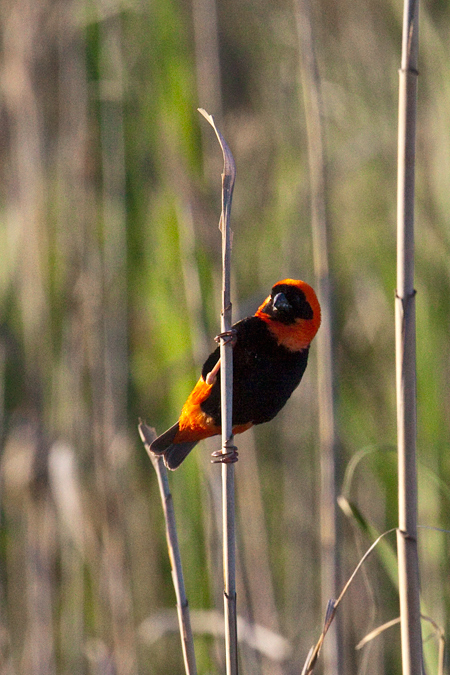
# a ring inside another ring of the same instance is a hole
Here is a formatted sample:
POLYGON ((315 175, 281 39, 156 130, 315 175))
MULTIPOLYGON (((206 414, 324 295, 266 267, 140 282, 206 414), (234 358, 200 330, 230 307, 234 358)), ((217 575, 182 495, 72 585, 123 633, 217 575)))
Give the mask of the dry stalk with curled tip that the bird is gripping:
MULTIPOLYGON (((233 444, 233 346, 226 335, 231 330, 231 228, 230 211, 233 197, 236 167, 233 155, 211 115, 200 109, 216 132, 223 152, 224 167, 222 173, 222 323, 223 336, 220 340, 220 384, 222 410, 222 455, 236 452, 233 444)), ((223 573, 224 573, 224 610, 225 610, 225 646, 227 675, 237 675, 237 621, 236 621, 236 550, 235 550, 235 506, 234 506, 234 464, 222 464, 222 506, 223 506, 223 573)))

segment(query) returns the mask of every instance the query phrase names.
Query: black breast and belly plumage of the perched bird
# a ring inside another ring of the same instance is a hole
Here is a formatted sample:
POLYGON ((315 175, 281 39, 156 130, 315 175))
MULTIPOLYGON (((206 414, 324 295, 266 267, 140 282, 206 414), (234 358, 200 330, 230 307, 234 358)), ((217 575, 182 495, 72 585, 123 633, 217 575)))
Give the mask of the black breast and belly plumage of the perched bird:
MULTIPOLYGON (((233 328, 237 333, 233 349, 233 425, 268 422, 299 385, 309 348, 291 352, 279 346, 266 323, 258 317, 243 319, 233 328)), ((206 360, 202 370, 204 378, 218 358, 219 348, 206 360)), ((201 408, 220 425, 220 371, 201 408)))

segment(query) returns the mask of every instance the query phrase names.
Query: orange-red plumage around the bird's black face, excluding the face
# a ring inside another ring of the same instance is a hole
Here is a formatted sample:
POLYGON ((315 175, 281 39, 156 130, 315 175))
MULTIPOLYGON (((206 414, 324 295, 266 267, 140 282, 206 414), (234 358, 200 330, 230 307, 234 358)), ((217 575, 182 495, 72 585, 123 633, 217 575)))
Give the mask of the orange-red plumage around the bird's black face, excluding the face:
POLYGON ((314 289, 304 281, 284 279, 283 281, 279 281, 278 284, 296 286, 303 291, 306 300, 309 302, 313 311, 312 319, 296 319, 294 324, 283 324, 280 321, 272 319, 263 311, 264 307, 270 301, 270 296, 264 300, 262 305, 256 311, 255 316, 259 317, 267 324, 268 329, 279 345, 282 345, 290 351, 297 352, 308 347, 319 330, 321 321, 319 301, 317 300, 314 289))

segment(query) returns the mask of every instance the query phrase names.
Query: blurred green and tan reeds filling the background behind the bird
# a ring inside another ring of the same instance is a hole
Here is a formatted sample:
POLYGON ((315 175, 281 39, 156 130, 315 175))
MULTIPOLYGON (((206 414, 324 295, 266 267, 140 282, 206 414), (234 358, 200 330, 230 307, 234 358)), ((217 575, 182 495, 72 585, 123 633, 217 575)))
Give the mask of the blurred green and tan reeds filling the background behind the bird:
MULTIPOLYGON (((161 504, 137 422, 158 432, 175 422, 220 330, 222 157, 196 109, 215 115, 237 165, 237 320, 280 279, 316 284, 306 21, 322 100, 339 589, 397 523, 402 3, 2 0, 0 12, 0 673, 181 673, 161 504)), ((424 3, 419 523, 447 530, 449 25, 447 2, 424 3)), ((237 438, 243 673, 300 673, 322 627, 317 372, 316 341, 282 413, 237 438)), ((202 675, 224 672, 218 446, 202 443, 170 475, 202 675)), ((419 536, 432 673, 450 620, 449 535, 419 536)), ((340 607, 340 673, 400 670, 398 625, 355 650, 398 616, 394 538, 340 607)))

